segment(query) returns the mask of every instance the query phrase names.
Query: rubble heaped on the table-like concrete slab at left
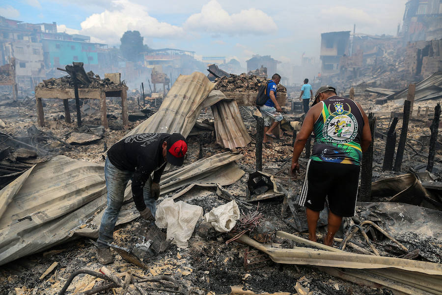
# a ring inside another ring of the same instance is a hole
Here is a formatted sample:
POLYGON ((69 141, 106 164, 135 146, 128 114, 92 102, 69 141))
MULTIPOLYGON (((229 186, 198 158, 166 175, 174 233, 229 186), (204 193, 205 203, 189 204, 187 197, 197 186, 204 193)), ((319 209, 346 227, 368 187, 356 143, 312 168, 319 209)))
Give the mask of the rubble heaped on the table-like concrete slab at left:
MULTIPOLYGON (((89 77, 91 83, 87 87, 80 83, 79 88, 118 88, 120 86, 125 86, 124 81, 120 84, 115 84, 109 78, 101 79, 99 75, 95 75, 92 71, 87 72, 86 75, 89 77)), ((38 84, 37 89, 66 89, 73 87, 74 82, 71 77, 63 76, 61 78, 43 80, 43 82, 38 84)))

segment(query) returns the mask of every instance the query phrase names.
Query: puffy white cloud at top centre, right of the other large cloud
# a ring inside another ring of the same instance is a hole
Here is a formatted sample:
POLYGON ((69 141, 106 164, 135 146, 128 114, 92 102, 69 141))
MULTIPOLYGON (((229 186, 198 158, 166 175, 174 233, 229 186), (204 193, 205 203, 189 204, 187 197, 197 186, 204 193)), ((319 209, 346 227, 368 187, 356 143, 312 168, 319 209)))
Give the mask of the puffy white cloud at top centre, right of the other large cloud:
POLYGON ((191 15, 184 28, 229 35, 269 34, 277 30, 273 19, 262 10, 249 8, 229 15, 217 0, 209 1, 203 5, 200 13, 191 15))

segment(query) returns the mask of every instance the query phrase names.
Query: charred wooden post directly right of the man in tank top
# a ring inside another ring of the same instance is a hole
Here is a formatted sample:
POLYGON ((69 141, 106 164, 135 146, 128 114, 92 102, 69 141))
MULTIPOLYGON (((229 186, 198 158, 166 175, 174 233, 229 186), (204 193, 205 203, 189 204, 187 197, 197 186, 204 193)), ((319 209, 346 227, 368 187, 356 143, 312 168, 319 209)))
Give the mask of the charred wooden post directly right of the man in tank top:
POLYGON ((371 143, 368 149, 362 154, 362 167, 360 173, 360 188, 358 200, 361 202, 371 201, 371 178, 373 173, 373 142, 376 128, 376 117, 373 113, 368 114, 368 124, 370 125, 371 143))

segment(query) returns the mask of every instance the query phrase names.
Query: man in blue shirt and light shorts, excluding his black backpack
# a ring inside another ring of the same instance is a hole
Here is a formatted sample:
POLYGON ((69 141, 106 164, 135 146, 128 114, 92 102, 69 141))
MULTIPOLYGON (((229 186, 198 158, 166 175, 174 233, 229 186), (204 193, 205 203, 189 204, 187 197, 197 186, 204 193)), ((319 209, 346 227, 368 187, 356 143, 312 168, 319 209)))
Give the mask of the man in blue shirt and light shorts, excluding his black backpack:
POLYGON ((268 143, 269 137, 276 139, 276 136, 272 134, 272 131, 282 120, 282 115, 280 113, 282 110, 276 101, 276 85, 279 84, 279 81, 281 81, 281 76, 274 74, 272 80, 267 83, 267 95, 269 98, 263 106, 259 107, 262 118, 264 119, 263 143, 268 143), (273 123, 272 119, 274 120, 273 123))

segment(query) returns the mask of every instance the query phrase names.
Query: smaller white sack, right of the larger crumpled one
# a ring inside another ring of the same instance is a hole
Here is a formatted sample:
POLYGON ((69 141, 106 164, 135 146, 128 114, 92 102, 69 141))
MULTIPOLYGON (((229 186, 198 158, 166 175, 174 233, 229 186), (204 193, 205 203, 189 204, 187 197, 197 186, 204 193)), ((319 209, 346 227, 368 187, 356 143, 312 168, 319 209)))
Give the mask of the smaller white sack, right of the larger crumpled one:
POLYGON ((239 215, 238 204, 235 201, 230 201, 210 210, 204 215, 204 219, 206 222, 210 222, 218 232, 227 233, 235 226, 239 215))

